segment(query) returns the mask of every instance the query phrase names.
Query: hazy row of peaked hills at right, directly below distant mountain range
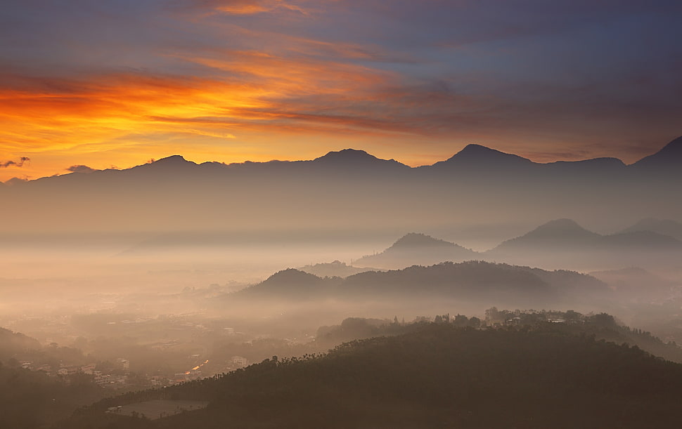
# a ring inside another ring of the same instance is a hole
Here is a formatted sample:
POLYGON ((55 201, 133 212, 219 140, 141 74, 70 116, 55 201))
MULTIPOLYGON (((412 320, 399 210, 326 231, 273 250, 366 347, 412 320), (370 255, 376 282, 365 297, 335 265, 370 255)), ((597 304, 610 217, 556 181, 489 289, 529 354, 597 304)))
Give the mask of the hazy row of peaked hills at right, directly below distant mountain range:
POLYGON ((353 266, 392 269, 465 260, 578 270, 628 265, 670 266, 682 257, 682 241, 675 238, 680 234, 682 225, 674 220, 644 219, 622 232, 600 235, 586 230, 574 220, 563 218, 508 239, 489 251, 477 252, 411 232, 380 253, 354 260, 353 266), (669 235, 665 235, 666 232, 669 235))

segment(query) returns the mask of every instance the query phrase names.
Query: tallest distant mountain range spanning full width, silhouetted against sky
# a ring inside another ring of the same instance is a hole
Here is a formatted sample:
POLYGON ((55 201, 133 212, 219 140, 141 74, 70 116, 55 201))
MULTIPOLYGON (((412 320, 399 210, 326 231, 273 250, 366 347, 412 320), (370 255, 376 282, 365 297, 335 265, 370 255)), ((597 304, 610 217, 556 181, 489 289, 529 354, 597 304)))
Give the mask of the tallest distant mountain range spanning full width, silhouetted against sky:
POLYGON ((11 202, 0 225, 16 235, 186 231, 200 243, 213 239, 201 235, 207 231, 226 232, 226 239, 227 232, 281 230, 324 237, 330 225, 425 230, 472 219, 490 225, 501 217, 527 224, 581 216, 603 225, 623 213, 679 218, 681 147, 678 138, 629 166, 617 159, 538 164, 480 145, 418 168, 360 150, 242 164, 173 156, 126 170, 14 180, 0 187, 2 200, 11 202))

